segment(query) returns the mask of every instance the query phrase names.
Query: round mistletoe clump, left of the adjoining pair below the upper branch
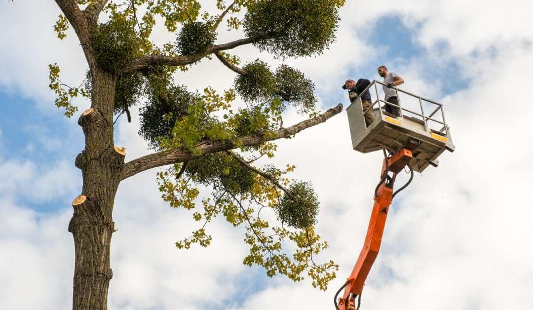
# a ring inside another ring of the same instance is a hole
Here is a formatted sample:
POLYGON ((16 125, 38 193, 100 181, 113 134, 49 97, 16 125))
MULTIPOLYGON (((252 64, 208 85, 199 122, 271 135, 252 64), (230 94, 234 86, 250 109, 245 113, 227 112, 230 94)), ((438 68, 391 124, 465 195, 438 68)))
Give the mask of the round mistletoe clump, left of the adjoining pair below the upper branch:
POLYGON ((246 74, 235 78, 235 90, 245 101, 270 98, 276 92, 276 79, 266 62, 257 59, 243 70, 246 74))

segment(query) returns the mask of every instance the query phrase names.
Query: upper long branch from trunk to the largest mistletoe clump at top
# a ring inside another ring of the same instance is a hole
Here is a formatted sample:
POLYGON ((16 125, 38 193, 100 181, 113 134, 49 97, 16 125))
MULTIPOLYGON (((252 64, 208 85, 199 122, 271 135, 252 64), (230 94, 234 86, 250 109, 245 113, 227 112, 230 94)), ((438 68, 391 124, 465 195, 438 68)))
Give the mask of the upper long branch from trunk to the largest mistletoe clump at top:
POLYGON ((141 70, 148 68, 149 66, 155 65, 165 65, 165 66, 184 66, 190 65, 191 63, 197 62, 198 60, 206 57, 208 54, 216 53, 223 50, 231 50, 240 45, 251 44, 260 41, 261 38, 244 38, 238 39, 236 41, 212 45, 205 52, 197 53, 192 55, 179 55, 179 56, 167 56, 167 55, 147 55, 137 59, 134 59, 132 62, 128 63, 120 74, 124 74, 134 70, 141 70))

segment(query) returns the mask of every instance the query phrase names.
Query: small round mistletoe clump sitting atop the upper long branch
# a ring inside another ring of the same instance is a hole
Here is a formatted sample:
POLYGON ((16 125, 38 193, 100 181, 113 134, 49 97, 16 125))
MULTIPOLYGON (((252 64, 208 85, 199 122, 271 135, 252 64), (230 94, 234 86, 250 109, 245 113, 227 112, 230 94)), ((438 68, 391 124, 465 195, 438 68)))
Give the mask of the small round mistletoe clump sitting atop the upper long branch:
POLYGON ((216 33, 209 22, 188 22, 183 24, 177 35, 176 47, 182 55, 203 53, 216 39, 216 33))

